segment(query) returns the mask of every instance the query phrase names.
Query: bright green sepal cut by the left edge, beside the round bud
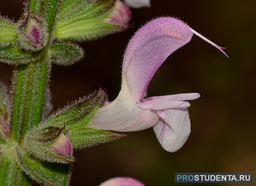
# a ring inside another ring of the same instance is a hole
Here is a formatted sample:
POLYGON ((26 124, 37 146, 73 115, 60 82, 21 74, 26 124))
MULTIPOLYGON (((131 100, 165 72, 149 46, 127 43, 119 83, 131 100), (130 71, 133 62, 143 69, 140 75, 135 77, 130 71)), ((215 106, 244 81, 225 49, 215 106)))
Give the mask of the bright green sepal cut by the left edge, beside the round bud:
POLYGON ((14 22, 0 15, 0 48, 14 45, 16 39, 14 22))

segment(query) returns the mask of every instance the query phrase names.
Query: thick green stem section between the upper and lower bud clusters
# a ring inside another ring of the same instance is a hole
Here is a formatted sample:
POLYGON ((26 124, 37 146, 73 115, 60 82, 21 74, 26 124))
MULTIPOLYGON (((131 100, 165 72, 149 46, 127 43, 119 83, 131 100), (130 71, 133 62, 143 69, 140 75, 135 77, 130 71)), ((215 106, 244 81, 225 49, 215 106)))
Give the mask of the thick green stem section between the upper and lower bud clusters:
POLYGON ((14 72, 12 141, 23 142, 26 132, 39 124, 49 72, 46 55, 34 63, 19 66, 14 72))

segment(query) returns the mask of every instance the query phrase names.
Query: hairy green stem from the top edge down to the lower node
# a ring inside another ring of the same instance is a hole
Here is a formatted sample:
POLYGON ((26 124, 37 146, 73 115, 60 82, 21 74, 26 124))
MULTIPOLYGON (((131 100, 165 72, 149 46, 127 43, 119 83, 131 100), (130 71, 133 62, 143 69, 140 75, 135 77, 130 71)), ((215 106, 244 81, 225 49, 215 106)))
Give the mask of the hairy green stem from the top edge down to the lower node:
MULTIPOLYGON (((59 0, 30 1, 29 10, 38 12, 45 17, 49 35, 52 32, 58 4, 59 0)), ((51 38, 49 43, 50 41, 51 38)), ((15 71, 13 80, 15 94, 10 135, 12 141, 19 140, 22 145, 26 132, 39 124, 50 71, 51 65, 48 63, 47 52, 36 62, 20 65, 15 71)))

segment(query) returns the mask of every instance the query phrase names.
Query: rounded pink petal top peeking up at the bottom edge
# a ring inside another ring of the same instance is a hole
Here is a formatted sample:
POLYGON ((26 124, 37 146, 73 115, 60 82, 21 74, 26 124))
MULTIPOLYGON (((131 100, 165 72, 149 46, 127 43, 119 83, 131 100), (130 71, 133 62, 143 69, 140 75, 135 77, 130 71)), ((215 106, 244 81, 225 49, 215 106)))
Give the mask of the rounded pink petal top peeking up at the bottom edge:
POLYGON ((117 177, 109 179, 99 186, 144 186, 144 184, 133 178, 117 177))

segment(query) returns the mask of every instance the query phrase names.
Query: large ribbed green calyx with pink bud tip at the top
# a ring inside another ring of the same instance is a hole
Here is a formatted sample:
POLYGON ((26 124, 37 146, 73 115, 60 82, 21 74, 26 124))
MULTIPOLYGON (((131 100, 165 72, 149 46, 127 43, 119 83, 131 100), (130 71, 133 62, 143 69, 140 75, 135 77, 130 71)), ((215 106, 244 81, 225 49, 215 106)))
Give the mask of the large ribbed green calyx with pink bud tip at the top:
POLYGON ((58 18, 57 40, 86 41, 126 29, 130 11, 119 0, 64 0, 58 18))

